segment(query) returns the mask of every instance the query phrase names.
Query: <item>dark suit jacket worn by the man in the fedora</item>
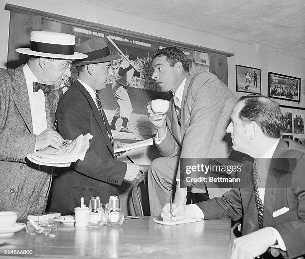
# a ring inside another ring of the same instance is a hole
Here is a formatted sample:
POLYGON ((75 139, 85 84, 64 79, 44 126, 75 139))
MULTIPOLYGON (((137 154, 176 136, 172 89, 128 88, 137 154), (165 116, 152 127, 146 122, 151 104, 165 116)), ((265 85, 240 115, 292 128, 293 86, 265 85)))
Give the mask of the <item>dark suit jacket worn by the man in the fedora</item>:
MULTIPOLYGON (((104 111, 103 111, 104 114, 104 111)), ((57 129, 65 139, 75 139, 90 132, 90 146, 83 161, 77 160, 62 168, 55 177, 49 211, 73 214, 79 207, 80 197, 89 206, 90 196, 100 196, 102 203, 117 194, 127 165, 116 159, 107 131, 107 118, 102 116, 84 86, 76 80, 62 96, 56 111, 57 129)))

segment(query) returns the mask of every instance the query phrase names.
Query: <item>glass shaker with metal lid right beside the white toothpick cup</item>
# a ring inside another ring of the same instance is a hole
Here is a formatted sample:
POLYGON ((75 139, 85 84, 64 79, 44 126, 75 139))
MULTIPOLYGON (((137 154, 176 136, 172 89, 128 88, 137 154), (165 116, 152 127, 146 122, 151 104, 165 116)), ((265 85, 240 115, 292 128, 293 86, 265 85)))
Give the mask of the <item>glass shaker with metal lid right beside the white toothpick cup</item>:
POLYGON ((91 196, 89 203, 88 227, 98 227, 104 224, 104 210, 99 196, 91 196))

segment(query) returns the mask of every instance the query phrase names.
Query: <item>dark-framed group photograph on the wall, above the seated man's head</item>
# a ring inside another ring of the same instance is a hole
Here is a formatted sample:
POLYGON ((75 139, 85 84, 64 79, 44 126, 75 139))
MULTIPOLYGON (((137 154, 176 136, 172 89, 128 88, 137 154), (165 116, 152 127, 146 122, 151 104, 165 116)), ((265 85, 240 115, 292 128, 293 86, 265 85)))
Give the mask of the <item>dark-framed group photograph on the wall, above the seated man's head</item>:
POLYGON ((301 101, 301 78, 268 73, 268 96, 291 102, 301 101))

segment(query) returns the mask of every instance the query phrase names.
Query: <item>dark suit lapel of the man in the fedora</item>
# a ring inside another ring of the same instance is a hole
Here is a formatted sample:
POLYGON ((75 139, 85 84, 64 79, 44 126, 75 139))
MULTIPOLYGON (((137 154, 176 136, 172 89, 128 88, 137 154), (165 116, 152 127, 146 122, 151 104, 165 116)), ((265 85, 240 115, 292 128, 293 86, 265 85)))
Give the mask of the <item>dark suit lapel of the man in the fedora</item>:
MULTIPOLYGON (((85 89, 85 87, 78 80, 76 80, 73 83, 73 86, 76 87, 79 91, 81 91, 85 95, 85 97, 86 97, 86 99, 87 99, 87 101, 88 101, 88 103, 89 103, 89 105, 92 109, 93 116, 94 116, 96 122, 98 123, 98 125, 99 125, 99 127, 100 127, 100 129, 101 129, 101 131, 104 135, 107 146, 108 146, 109 150, 111 151, 111 153, 113 154, 112 144, 110 142, 110 139, 109 139, 109 136, 108 136, 108 133, 107 133, 107 129, 106 129, 107 126, 105 126, 107 121, 104 123, 104 120, 103 120, 98 108, 96 107, 95 102, 92 100, 90 94, 85 89)), ((103 112, 104 118, 106 119, 106 115, 104 113, 103 108, 102 108, 102 112, 103 112)))

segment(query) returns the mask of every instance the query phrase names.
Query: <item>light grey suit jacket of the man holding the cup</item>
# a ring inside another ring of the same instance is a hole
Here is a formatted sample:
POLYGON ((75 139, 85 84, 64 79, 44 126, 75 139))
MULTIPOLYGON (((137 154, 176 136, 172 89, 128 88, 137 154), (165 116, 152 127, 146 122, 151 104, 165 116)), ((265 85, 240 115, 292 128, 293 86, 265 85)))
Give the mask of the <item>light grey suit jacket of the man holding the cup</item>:
MULTIPOLYGON (((165 157, 181 158, 228 157, 226 128, 237 99, 214 74, 188 75, 181 102, 181 127, 170 100, 166 113, 167 134, 157 145, 165 157)), ((230 139, 229 139, 230 140, 230 139)), ((180 166, 177 170, 177 178, 180 166)), ((217 187, 210 183, 207 187, 217 187)), ((210 197, 221 196, 226 190, 208 188, 210 197)))

